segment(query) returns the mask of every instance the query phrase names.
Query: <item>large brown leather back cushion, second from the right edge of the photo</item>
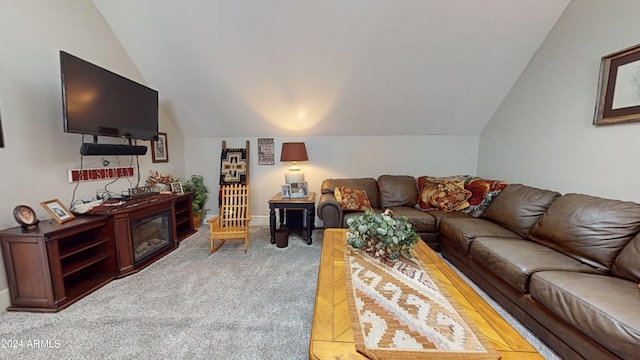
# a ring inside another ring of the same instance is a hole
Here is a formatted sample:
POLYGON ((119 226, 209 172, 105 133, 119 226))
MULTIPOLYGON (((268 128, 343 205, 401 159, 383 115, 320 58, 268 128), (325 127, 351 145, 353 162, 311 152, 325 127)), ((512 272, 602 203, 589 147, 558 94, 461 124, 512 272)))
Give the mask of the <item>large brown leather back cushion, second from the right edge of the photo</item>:
POLYGON ((549 206, 529 238, 606 272, 638 231, 640 204, 567 194, 549 206))

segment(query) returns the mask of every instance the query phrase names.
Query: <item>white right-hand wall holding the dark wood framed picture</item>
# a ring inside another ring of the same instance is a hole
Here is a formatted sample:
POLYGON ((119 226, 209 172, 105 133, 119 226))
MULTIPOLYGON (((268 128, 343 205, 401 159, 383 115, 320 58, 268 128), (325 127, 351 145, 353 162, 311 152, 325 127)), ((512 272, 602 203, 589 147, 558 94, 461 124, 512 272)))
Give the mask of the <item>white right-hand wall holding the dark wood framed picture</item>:
POLYGON ((600 59, 640 43, 638 13, 571 2, 482 133, 480 176, 640 202, 640 123, 592 125, 600 59))

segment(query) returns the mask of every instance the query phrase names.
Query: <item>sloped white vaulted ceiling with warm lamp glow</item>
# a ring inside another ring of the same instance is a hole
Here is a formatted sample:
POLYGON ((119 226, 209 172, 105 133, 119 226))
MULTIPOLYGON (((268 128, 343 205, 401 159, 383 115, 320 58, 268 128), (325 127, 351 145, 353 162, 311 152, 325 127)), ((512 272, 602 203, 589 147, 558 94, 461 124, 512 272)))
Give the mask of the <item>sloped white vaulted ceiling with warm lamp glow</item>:
POLYGON ((93 0, 185 136, 480 134, 570 0, 93 0))

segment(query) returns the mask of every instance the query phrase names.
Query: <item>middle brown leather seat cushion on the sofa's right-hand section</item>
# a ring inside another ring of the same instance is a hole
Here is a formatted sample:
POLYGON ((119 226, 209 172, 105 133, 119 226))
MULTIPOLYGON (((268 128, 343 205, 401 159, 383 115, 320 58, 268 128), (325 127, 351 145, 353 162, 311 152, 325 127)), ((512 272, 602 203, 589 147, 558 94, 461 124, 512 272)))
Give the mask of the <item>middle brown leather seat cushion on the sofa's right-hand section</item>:
POLYGON ((538 271, 597 271, 572 257, 533 241, 479 237, 469 245, 469 254, 523 293, 529 292, 529 278, 538 271))

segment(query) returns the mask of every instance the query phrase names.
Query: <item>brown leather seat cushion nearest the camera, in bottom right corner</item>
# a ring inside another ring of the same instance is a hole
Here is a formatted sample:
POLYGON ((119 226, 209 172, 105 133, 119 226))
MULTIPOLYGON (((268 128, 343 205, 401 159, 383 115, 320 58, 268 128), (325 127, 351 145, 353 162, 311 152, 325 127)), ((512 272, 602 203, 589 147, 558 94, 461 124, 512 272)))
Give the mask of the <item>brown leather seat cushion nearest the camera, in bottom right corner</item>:
POLYGON ((531 297, 623 359, 640 354, 640 294, 631 281, 606 275, 543 271, 531 297))

